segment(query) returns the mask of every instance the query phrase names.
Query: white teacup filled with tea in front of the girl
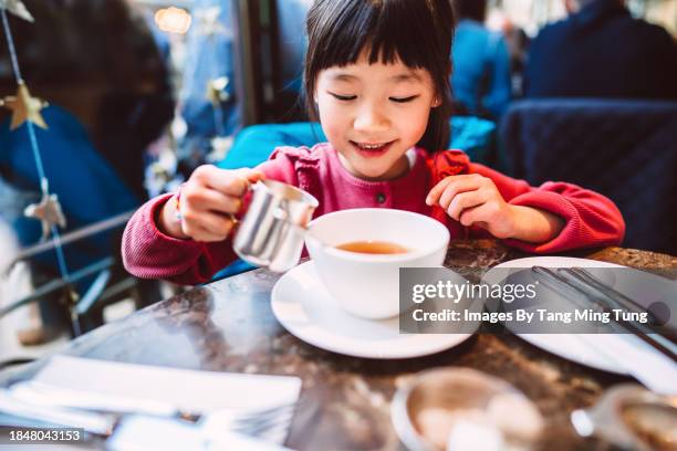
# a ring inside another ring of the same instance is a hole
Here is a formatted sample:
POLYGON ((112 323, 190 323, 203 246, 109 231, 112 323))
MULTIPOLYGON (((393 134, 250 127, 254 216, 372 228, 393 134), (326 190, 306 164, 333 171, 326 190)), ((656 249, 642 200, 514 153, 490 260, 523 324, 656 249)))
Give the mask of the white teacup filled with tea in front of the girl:
POLYGON ((445 260, 449 231, 424 214, 363 208, 324 214, 309 223, 305 237, 320 280, 332 297, 353 315, 383 319, 399 313, 399 268, 434 268, 445 260), (408 250, 368 254, 336 245, 377 241, 408 250))

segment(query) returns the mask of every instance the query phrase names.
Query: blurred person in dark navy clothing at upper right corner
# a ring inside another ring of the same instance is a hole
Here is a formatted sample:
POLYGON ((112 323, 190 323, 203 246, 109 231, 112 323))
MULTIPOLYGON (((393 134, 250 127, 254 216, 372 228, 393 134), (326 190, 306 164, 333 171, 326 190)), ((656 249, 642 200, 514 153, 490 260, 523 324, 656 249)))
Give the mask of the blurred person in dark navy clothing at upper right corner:
POLYGON ((623 0, 564 0, 531 43, 527 97, 677 98, 677 43, 623 0))

